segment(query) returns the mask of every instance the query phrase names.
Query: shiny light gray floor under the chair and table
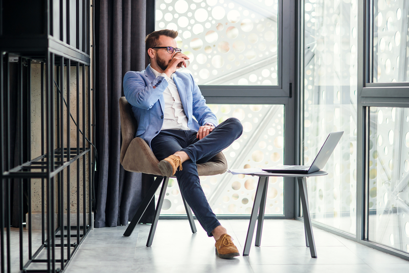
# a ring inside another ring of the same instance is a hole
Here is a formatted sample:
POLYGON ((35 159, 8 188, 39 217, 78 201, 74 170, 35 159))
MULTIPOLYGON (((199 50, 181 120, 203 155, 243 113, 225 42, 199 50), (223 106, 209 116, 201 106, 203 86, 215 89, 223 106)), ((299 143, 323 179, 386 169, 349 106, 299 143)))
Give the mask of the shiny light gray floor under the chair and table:
MULTIPOLYGON (((220 220, 243 252, 248 220, 220 220)), ((305 246, 304 225, 297 220, 265 220, 261 246, 250 255, 220 259, 214 240, 196 222, 160 220, 150 247, 150 225, 137 225, 130 237, 126 226, 94 229, 87 235, 66 273, 76 272, 409 272, 409 261, 314 228, 317 259, 305 246)))

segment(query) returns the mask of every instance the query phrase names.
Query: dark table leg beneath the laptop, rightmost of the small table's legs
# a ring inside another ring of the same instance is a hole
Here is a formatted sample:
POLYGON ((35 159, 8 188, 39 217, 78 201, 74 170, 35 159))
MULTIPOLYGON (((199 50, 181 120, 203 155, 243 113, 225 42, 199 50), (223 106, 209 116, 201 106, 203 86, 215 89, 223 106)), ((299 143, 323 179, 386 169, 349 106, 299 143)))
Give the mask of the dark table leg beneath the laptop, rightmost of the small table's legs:
POLYGON ((308 243, 310 245, 311 257, 316 258, 317 255, 316 255, 316 249, 315 249, 314 235, 312 234, 311 217, 310 217, 310 211, 308 207, 307 178, 298 177, 298 186, 300 188, 300 197, 301 197, 301 203, 302 203, 303 212, 304 212, 304 226, 305 226, 305 231, 306 231, 306 235, 308 238, 308 243))

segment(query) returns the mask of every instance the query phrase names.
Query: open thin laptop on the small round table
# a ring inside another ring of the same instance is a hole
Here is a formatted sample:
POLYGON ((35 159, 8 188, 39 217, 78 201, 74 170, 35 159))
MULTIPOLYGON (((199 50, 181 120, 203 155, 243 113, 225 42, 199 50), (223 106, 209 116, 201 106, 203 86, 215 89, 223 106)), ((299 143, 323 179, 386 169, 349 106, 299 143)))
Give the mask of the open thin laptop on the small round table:
POLYGON ((284 165, 284 166, 276 166, 276 167, 263 169, 263 171, 271 172, 271 173, 290 173, 290 174, 306 174, 306 173, 312 173, 312 172, 319 171, 324 168, 329 157, 334 151, 336 145, 341 139, 343 133, 344 131, 332 132, 328 135, 327 139, 324 142, 324 145, 321 147, 321 150, 316 155, 311 166, 284 165))

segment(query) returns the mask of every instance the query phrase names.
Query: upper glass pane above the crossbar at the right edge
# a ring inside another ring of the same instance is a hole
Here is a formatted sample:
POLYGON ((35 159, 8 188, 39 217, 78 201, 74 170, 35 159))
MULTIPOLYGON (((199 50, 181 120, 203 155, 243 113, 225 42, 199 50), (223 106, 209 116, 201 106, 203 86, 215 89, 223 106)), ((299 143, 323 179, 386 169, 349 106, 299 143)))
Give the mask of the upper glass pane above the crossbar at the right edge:
POLYGON ((407 0, 373 1, 373 82, 407 82, 407 0))

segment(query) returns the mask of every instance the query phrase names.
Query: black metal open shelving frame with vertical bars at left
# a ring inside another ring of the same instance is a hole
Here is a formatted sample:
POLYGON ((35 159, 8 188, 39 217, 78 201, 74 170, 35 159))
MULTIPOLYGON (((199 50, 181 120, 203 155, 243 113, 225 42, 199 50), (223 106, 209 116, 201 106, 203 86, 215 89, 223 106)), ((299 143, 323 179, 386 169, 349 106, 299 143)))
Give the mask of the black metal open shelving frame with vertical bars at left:
MULTIPOLYGON (((0 268, 2 273, 15 270, 15 268, 11 267, 10 256, 11 204, 9 196, 12 179, 14 179, 13 183, 19 191, 19 269, 23 272, 58 272, 64 270, 91 229, 90 225, 93 222, 92 197, 90 196, 93 185, 92 179, 94 177, 92 175, 94 172, 92 169, 93 145, 89 142, 89 139, 91 139, 92 122, 90 119, 90 107, 92 105, 90 43, 88 42, 90 0, 76 1, 76 20, 70 18, 70 1, 60 1, 58 7, 53 7, 54 3, 56 2, 52 0, 37 1, 37 4, 43 7, 43 13, 38 15, 43 16, 41 17, 44 24, 43 32, 33 33, 33 35, 28 36, 4 35, 2 27, 6 26, 8 22, 5 21, 5 17, 7 17, 5 16, 6 11, 0 9, 0 64, 2 64, 0 65, 0 113, 2 113, 2 118, 0 118, 0 154, 1 162, 5 163, 4 165, 1 164, 0 171, 0 240, 2 246, 0 247, 0 268), (63 5, 64 3, 65 5, 63 5), (54 9, 58 9, 59 24, 53 21, 54 9), (74 27, 76 30, 75 45, 70 45, 70 27, 74 27), (57 28, 59 29, 58 37, 53 36, 57 28), (14 151, 10 150, 9 57, 13 56, 18 57, 18 105, 21 106, 17 109, 17 127, 20 129, 16 133, 19 134, 20 141, 16 145, 20 149, 17 156, 18 166, 15 167, 12 167, 12 162, 10 162, 11 152, 14 151), (32 61, 39 62, 41 66, 41 155, 36 158, 31 156, 31 138, 29 137, 32 132, 30 109, 32 61), (27 62, 26 68, 24 67, 25 62, 27 62), (65 79, 64 67, 66 69, 65 79), (73 67, 75 67, 77 77, 76 90, 72 90, 69 84, 73 67), (23 89, 23 69, 27 69, 27 88, 25 89, 23 89), (80 72, 82 77, 80 77, 80 72), (82 96, 80 96, 80 78, 82 80, 82 96), (64 82, 67 83, 66 88, 64 88, 64 82), (77 122, 71 116, 70 111, 70 100, 72 99, 70 94, 73 92, 76 92, 77 122), (24 97, 26 101, 23 100, 24 97), (80 107, 80 104, 82 104, 82 107, 80 107), (24 107, 27 108, 26 117, 23 116, 24 107), (64 117, 64 113, 66 117, 64 117), (82 117, 82 121, 80 121, 80 117, 82 117), (76 147, 70 146, 71 119, 74 120, 77 130, 76 147), (23 126, 25 126, 24 129, 22 129, 23 126), (65 138, 64 129, 66 129, 65 138), (28 136, 25 139, 24 132, 28 136), (82 134, 82 143, 80 143, 80 134, 82 134), (80 170, 81 160, 82 173, 80 170), (77 224, 75 226, 71 226, 70 214, 70 168, 72 164, 77 165, 77 224), (86 169, 88 169, 88 173, 86 169), (64 185, 64 172, 66 172, 66 185, 64 185), (41 179, 41 244, 34 253, 32 251, 32 212, 30 200, 32 178, 41 179), (86 181, 88 185, 86 185, 86 181), (27 235, 23 231, 24 184, 27 184, 29 198, 27 235), (82 198, 80 199, 81 188, 82 198), (88 195, 87 192, 89 193, 88 195), (88 202, 86 201, 87 196, 88 202), (65 205, 64 201, 66 201, 65 205), (81 201, 82 208, 80 208, 81 201), (57 204, 56 208, 55 204, 57 204), (64 223, 64 211, 66 211, 67 223, 64 223), (80 226, 81 213, 83 214, 83 223, 80 226), (55 214, 57 214, 56 218, 55 214), (56 226, 55 223, 57 224, 56 226), (4 226, 6 227, 6 234, 4 234, 4 226), (74 230, 76 232, 73 233, 72 231, 74 230), (28 236, 28 257, 24 255, 23 241, 25 236, 28 236), (76 240, 72 241, 71 238, 76 238, 76 240), (4 245, 6 247, 3 247, 4 245), (60 250, 59 259, 56 258, 57 248, 60 250), (47 259, 39 258, 42 252, 47 253, 47 259), (43 264, 44 268, 37 269, 38 266, 36 266, 36 269, 31 269, 30 265, 34 263, 43 264)), ((15 4, 19 5, 19 1, 16 1, 15 4)), ((0 7, 4 7, 4 5, 5 2, 0 1, 0 7)), ((11 4, 7 3, 7 5, 10 8, 11 4)), ((30 11, 23 10, 22 12, 30 11)), ((33 14, 33 16, 37 16, 37 14, 33 14)), ((19 19, 21 20, 21 18, 19 19)))

